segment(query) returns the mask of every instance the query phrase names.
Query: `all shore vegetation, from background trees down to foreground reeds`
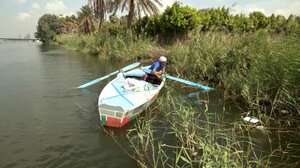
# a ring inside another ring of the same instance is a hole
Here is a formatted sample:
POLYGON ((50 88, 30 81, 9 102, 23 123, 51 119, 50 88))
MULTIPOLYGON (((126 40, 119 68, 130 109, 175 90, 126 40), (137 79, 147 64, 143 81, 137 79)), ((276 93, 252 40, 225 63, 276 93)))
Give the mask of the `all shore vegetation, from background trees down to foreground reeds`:
POLYGON ((165 55, 170 74, 212 86, 241 108, 239 120, 225 122, 219 114, 226 105, 211 113, 208 105, 178 104, 166 86, 157 106, 127 134, 128 153, 141 167, 300 165, 299 16, 232 15, 229 8, 196 10, 179 2, 132 23, 132 12, 100 24, 95 13, 86 5, 77 17, 45 14, 36 37, 116 61, 149 64, 165 55), (242 122, 245 115, 259 119, 270 151, 260 150, 252 137, 258 127, 242 122), (157 124, 160 117, 164 124, 157 124))

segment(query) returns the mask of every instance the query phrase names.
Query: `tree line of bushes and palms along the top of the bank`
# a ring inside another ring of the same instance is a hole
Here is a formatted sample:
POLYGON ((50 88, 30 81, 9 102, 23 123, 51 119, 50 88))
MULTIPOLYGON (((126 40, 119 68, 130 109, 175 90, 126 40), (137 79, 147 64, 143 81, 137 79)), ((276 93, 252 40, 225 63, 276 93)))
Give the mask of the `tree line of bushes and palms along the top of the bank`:
MULTIPOLYGON (((103 0, 100 0, 103 1, 103 0)), ((300 17, 290 15, 266 16, 262 12, 252 12, 249 16, 244 14, 233 15, 230 8, 200 9, 184 6, 176 1, 172 6, 159 14, 160 0, 133 1, 114 0, 102 3, 89 0, 88 5, 81 7, 77 16, 58 17, 45 14, 39 18, 36 38, 44 43, 55 40, 58 34, 101 34, 109 32, 112 35, 127 33, 131 30, 136 35, 150 37, 178 38, 187 35, 191 30, 199 31, 225 31, 233 33, 254 32, 267 29, 270 33, 294 33, 300 29, 300 17), (128 11, 128 15, 117 17, 118 10, 128 11), (104 13, 101 13, 104 12, 104 13), (142 17, 142 12, 144 17, 142 17), (109 15, 104 19, 105 15, 109 15)))

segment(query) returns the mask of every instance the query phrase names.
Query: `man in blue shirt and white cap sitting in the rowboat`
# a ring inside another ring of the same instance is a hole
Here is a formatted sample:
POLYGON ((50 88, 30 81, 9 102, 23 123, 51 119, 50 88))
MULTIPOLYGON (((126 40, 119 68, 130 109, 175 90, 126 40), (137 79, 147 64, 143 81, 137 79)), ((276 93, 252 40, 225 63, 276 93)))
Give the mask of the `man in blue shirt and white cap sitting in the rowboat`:
POLYGON ((167 58, 161 56, 159 60, 155 61, 149 69, 152 70, 152 73, 146 73, 146 81, 152 84, 159 85, 161 83, 161 74, 165 73, 167 65, 167 58))

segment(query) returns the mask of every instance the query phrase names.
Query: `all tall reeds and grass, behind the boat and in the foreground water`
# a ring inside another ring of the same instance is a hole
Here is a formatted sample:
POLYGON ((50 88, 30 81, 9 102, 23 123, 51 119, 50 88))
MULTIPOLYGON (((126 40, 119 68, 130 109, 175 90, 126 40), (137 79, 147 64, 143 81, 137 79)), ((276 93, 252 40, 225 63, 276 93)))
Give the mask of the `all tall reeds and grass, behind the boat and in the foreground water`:
POLYGON ((223 111, 178 104, 172 86, 166 86, 156 108, 127 134, 131 157, 140 166, 299 165, 299 35, 192 31, 187 39, 170 45, 124 34, 69 34, 57 41, 68 49, 115 61, 149 64, 165 55, 170 74, 214 87, 224 101, 241 108, 236 118, 224 121, 226 103, 223 111), (247 115, 258 118, 259 124, 243 122, 247 115), (263 150, 260 143, 270 148, 263 150))

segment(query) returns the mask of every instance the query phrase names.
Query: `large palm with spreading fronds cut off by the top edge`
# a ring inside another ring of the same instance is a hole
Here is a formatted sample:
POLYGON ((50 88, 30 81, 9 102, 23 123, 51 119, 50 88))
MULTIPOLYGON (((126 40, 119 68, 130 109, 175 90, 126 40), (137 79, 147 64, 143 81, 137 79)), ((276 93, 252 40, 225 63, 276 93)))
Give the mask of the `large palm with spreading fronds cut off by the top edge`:
POLYGON ((107 0, 107 8, 109 12, 116 13, 121 9, 121 12, 126 10, 128 13, 128 29, 131 29, 135 13, 141 18, 142 12, 145 15, 154 15, 159 13, 159 5, 162 7, 162 0, 107 0))

